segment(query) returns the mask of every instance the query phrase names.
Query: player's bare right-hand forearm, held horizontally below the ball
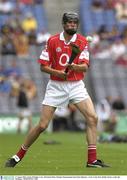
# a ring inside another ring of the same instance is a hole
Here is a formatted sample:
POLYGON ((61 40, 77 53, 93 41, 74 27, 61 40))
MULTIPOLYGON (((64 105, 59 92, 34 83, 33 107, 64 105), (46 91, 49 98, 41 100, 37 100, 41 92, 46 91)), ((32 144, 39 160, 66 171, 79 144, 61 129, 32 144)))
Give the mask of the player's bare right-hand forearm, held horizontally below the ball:
POLYGON ((86 63, 82 63, 82 64, 68 64, 67 68, 69 70, 73 70, 76 72, 86 72, 88 69, 88 65, 86 63))

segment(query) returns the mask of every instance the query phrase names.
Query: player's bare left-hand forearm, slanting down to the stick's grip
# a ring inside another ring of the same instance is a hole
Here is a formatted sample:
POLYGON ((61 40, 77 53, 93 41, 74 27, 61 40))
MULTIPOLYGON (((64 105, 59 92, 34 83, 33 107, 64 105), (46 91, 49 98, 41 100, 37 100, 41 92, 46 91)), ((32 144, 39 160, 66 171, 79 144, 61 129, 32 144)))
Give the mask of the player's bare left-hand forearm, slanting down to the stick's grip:
POLYGON ((40 65, 40 69, 42 72, 45 72, 45 73, 48 73, 50 75, 54 75, 54 76, 57 76, 63 80, 66 80, 67 79, 67 74, 64 72, 64 71, 61 71, 61 70, 56 70, 56 69, 53 69, 49 66, 46 66, 46 65, 40 65))

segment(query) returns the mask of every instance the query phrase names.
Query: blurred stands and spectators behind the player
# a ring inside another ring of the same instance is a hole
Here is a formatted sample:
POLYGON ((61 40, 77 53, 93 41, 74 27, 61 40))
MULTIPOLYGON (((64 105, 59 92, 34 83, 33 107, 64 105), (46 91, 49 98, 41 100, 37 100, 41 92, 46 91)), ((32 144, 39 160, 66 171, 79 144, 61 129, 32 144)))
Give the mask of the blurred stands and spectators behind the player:
MULTIPOLYGON (((37 59, 47 39, 62 31, 66 11, 78 12, 79 32, 93 37, 85 83, 99 116, 99 140, 113 141, 115 135, 115 141, 126 141, 127 0, 0 0, 0 133, 17 132, 21 84, 32 123, 39 120, 49 77, 40 72, 37 59)), ((47 131, 84 131, 85 127, 70 104, 56 111, 47 131)), ((27 130, 25 119, 21 132, 27 130)))

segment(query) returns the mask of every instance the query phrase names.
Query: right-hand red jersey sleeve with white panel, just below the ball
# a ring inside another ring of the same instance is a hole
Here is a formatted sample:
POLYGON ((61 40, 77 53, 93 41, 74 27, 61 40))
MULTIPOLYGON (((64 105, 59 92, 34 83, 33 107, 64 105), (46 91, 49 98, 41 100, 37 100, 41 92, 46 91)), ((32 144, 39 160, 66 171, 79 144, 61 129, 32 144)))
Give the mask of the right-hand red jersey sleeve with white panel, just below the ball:
POLYGON ((79 56, 79 63, 86 63, 89 66, 88 43, 86 43, 83 47, 83 50, 79 56))

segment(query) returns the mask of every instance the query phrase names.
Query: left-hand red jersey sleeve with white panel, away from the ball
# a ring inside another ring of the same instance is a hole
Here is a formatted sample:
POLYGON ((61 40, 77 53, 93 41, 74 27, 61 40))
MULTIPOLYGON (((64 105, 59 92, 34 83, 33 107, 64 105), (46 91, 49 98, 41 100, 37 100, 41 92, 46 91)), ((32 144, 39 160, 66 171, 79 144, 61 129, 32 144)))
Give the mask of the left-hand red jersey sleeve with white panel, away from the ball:
POLYGON ((38 59, 38 63, 42 65, 50 65, 49 40, 46 43, 45 49, 41 52, 40 58, 38 59))

